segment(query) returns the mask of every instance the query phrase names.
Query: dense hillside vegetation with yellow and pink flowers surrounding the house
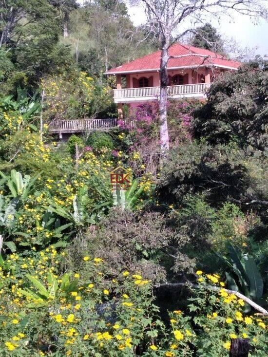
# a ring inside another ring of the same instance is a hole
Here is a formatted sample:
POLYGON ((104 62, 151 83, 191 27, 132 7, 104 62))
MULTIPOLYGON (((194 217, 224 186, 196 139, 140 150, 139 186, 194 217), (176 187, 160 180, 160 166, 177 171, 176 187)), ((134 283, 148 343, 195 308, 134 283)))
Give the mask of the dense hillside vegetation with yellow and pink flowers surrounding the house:
POLYGON ((267 356, 265 62, 171 100, 165 158, 157 101, 60 141, 56 120, 115 117, 103 72, 154 39, 122 1, 0 7, 0 356, 222 357, 237 337, 267 356))

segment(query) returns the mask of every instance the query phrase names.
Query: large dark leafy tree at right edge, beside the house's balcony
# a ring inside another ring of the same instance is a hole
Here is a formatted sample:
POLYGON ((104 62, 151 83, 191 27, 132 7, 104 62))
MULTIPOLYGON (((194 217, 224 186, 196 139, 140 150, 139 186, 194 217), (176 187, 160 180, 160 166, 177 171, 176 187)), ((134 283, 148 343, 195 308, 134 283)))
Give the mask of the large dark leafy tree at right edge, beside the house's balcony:
POLYGON ((267 68, 256 63, 221 75, 194 115, 194 136, 206 137, 211 144, 235 141, 240 147, 267 150, 267 81, 267 68))

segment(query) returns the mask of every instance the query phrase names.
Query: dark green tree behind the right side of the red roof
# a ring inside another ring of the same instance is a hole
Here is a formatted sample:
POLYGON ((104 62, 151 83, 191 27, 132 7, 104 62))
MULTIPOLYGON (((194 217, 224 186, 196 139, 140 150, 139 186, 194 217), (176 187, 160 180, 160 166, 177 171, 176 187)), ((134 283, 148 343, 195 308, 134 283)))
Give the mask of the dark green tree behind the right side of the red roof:
POLYGON ((210 23, 198 27, 193 33, 189 41, 192 46, 224 54, 223 39, 210 23))

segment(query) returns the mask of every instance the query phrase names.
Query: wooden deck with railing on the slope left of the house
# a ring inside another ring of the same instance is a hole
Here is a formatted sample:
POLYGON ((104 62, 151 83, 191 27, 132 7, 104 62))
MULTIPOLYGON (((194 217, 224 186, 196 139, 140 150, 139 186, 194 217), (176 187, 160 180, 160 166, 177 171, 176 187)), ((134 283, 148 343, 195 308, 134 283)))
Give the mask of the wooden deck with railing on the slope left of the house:
POLYGON ((108 131, 117 127, 117 119, 74 119, 74 120, 55 120, 49 125, 49 132, 59 134, 75 132, 108 131))

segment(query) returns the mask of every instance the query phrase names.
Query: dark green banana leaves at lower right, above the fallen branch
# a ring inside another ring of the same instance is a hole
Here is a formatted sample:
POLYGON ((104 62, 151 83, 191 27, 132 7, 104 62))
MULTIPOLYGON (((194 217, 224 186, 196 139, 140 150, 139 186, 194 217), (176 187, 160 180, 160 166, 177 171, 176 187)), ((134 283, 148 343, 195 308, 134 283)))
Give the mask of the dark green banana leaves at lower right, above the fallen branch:
POLYGON ((228 245, 229 258, 217 254, 230 268, 226 279, 231 290, 240 291, 249 299, 258 301, 263 295, 263 279, 254 259, 228 245))

